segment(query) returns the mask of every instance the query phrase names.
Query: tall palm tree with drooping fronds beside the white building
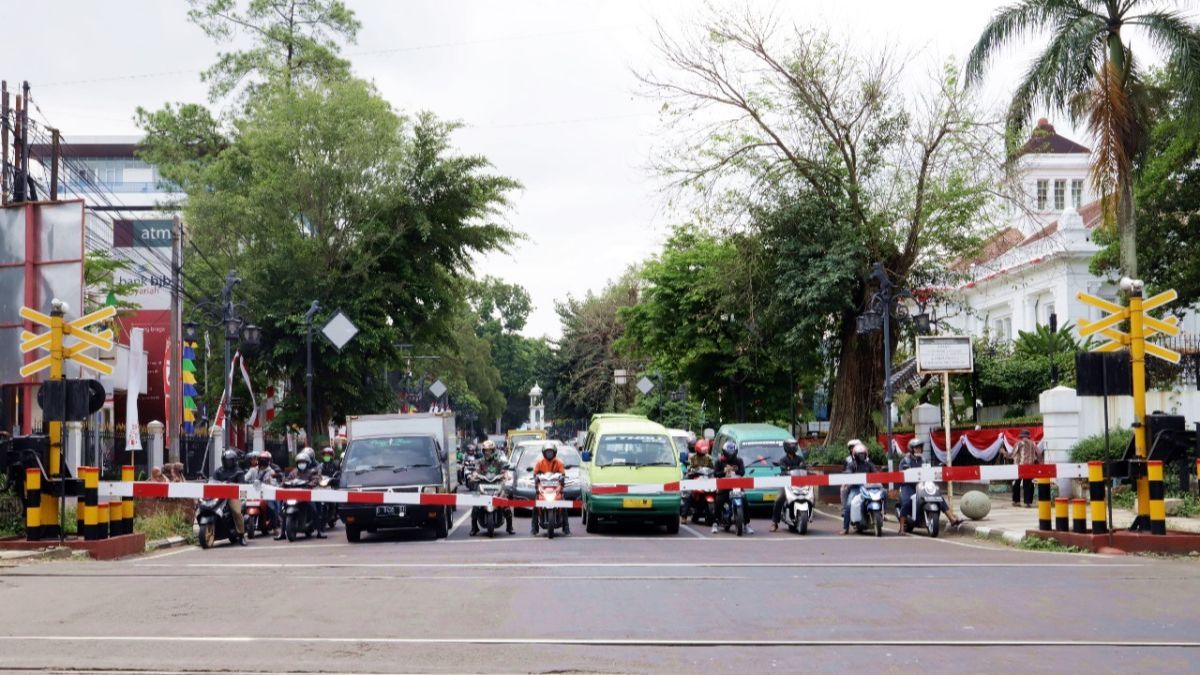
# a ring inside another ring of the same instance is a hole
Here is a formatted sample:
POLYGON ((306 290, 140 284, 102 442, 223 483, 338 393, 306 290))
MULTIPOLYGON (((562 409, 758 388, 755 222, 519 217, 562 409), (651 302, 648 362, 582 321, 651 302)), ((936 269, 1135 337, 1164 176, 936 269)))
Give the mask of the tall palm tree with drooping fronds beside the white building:
MULTIPOLYGON (((1091 178, 1105 222, 1116 220, 1121 273, 1136 279, 1134 162, 1150 129, 1146 89, 1122 29, 1139 30, 1178 73, 1181 97, 1200 103, 1200 31, 1164 0, 1021 0, 992 16, 971 55, 966 82, 978 84, 988 62, 1008 43, 1049 30, 1008 108, 1009 148, 1022 138, 1034 106, 1086 119, 1094 138, 1091 178)), ((1176 2, 1182 4, 1182 2, 1176 2)), ((1184 108, 1187 109, 1187 108, 1184 108)))

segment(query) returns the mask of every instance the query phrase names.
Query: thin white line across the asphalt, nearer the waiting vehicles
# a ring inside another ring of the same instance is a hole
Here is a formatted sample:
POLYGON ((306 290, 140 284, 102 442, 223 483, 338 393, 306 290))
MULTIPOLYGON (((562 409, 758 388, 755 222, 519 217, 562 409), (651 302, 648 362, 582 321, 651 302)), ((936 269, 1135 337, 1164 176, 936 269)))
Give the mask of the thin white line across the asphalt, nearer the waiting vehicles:
POLYGON ((191 567, 212 569, 577 569, 577 568, 646 568, 646 569, 697 569, 697 568, 1115 568, 1145 567, 1140 562, 188 562, 184 565, 149 563, 139 567, 191 567))

